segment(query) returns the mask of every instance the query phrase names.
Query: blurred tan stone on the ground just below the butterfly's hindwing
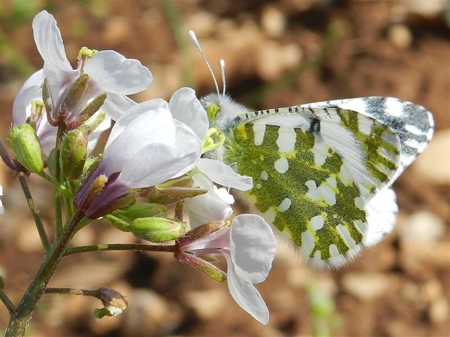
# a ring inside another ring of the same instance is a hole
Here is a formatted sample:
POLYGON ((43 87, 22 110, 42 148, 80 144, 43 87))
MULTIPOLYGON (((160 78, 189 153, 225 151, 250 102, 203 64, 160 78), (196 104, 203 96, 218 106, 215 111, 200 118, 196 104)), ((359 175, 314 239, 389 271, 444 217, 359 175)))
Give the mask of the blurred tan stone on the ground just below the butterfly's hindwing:
POLYGON ((392 286, 392 278, 375 272, 354 272, 342 278, 343 289, 363 301, 373 300, 385 295, 392 286))

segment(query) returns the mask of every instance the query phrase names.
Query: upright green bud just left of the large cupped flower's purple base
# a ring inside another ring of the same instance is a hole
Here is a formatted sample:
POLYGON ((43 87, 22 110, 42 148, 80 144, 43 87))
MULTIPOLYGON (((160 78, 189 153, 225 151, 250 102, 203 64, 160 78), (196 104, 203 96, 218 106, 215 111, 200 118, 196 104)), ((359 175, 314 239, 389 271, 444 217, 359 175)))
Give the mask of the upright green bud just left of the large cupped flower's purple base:
POLYGON ((63 176, 78 179, 87 156, 87 133, 79 129, 68 132, 60 147, 59 164, 63 176))

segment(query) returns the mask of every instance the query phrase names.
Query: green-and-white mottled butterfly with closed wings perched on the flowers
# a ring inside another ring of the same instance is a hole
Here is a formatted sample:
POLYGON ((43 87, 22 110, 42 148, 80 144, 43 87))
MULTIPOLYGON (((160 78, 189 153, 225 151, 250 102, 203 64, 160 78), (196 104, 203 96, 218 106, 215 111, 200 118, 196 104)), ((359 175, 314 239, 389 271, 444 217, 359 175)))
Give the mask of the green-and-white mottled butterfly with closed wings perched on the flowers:
POLYGON ((392 232, 392 183, 434 126, 424 107, 390 97, 257 111, 219 91, 200 101, 225 136, 210 156, 252 177, 250 209, 316 267, 340 267, 392 232))

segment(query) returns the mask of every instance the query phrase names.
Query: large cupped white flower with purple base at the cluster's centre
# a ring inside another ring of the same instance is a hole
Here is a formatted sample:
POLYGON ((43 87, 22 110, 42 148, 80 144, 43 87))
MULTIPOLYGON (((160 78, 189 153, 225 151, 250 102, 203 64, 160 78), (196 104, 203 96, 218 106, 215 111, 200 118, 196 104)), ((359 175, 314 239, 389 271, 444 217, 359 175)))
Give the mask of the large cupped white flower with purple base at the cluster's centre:
POLYGON ((198 138, 172 118, 165 100, 137 104, 117 119, 103 161, 80 187, 74 204, 88 218, 103 216, 131 189, 158 185, 193 169, 200 150, 198 138), (102 177, 103 190, 92 199, 92 184, 102 177))

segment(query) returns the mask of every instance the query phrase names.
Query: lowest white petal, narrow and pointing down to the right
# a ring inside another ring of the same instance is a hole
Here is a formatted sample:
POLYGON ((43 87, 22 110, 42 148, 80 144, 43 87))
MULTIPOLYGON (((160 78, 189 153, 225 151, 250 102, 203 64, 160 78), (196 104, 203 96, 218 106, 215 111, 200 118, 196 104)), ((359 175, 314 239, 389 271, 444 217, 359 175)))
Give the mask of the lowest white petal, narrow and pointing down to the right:
POLYGON ((229 261, 229 258, 227 258, 227 263, 228 269, 226 277, 231 296, 233 296, 236 303, 240 305, 240 308, 243 308, 243 310, 248 312, 262 324, 267 324, 267 322, 269 322, 269 310, 267 309, 261 294, 257 291, 255 286, 236 273, 233 263, 229 261))

